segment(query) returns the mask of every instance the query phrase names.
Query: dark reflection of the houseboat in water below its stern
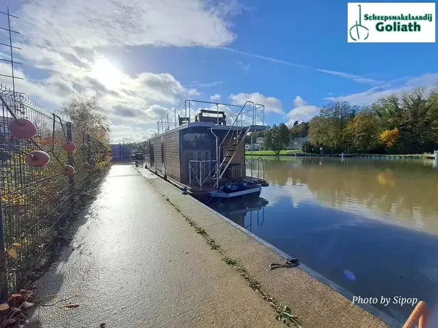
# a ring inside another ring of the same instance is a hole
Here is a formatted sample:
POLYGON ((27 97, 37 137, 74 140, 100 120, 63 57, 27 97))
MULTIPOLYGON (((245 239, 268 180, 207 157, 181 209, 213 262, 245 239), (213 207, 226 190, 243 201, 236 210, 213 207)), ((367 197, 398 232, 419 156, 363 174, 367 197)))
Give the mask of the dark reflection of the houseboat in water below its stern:
POLYGON ((266 205, 268 201, 264 198, 251 197, 229 202, 216 202, 209 206, 239 226, 251 231, 253 223, 257 223, 257 226, 263 225, 266 205))

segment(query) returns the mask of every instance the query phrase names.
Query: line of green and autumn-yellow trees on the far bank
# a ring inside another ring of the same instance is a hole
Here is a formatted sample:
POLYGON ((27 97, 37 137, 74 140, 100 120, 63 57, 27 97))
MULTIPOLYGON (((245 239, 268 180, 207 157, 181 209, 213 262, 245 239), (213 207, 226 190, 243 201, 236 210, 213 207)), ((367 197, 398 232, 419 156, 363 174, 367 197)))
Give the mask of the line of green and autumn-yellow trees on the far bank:
POLYGON ((438 146, 438 89, 392 94, 368 107, 324 105, 309 122, 281 123, 263 131, 264 148, 277 154, 291 139, 308 137, 303 152, 421 154, 438 146))

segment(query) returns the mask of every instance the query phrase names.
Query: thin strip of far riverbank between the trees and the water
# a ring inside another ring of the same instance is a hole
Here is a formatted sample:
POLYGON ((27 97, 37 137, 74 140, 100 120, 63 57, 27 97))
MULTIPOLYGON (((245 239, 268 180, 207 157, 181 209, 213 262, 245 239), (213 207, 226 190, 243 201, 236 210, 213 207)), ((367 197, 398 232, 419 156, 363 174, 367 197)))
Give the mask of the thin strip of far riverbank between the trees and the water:
MULTIPOLYGON (((273 150, 255 150, 253 156, 296 156, 296 157, 342 157, 342 154, 311 154, 299 152, 298 150, 282 150, 280 154, 275 154, 273 150)), ((251 156, 250 151, 245 152, 246 156, 251 156)), ((434 154, 344 154, 345 158, 374 158, 374 159, 434 159, 434 154)))

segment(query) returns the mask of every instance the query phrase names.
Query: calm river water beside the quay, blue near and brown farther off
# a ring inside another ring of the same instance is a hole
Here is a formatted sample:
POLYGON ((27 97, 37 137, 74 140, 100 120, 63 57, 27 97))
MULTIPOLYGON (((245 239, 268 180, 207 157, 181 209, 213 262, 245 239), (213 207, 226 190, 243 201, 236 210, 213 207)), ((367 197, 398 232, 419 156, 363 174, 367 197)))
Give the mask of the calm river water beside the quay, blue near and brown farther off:
POLYGON ((270 187, 261 199, 212 207, 354 295, 378 297, 374 306, 400 322, 413 307, 382 305, 382 296, 416 297, 438 311, 433 161, 264 161, 270 187))

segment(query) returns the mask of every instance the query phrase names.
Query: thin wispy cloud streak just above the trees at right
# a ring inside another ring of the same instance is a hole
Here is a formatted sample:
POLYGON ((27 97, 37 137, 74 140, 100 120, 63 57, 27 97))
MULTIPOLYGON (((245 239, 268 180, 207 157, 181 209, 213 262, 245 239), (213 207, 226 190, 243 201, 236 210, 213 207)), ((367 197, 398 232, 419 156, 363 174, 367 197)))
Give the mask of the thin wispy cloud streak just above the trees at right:
POLYGON ((328 101, 348 101, 352 105, 366 106, 371 105, 376 100, 389 96, 390 94, 398 94, 403 91, 415 89, 415 87, 425 87, 426 91, 433 89, 438 81, 438 73, 427 73, 420 77, 404 79, 404 83, 395 80, 378 87, 372 87, 364 92, 357 94, 348 94, 347 96, 328 97, 324 100, 328 101))

